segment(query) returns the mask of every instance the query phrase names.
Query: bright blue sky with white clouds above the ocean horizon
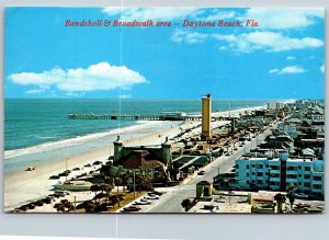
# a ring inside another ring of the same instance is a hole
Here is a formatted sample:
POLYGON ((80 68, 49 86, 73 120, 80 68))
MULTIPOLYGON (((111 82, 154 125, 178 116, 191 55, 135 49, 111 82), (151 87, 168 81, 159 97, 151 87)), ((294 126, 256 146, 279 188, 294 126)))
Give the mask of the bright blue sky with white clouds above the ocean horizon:
POLYGON ((324 99, 324 9, 8 8, 4 94, 324 99), (66 20, 121 18, 177 25, 65 26, 66 20), (188 27, 183 20, 260 26, 188 27))

